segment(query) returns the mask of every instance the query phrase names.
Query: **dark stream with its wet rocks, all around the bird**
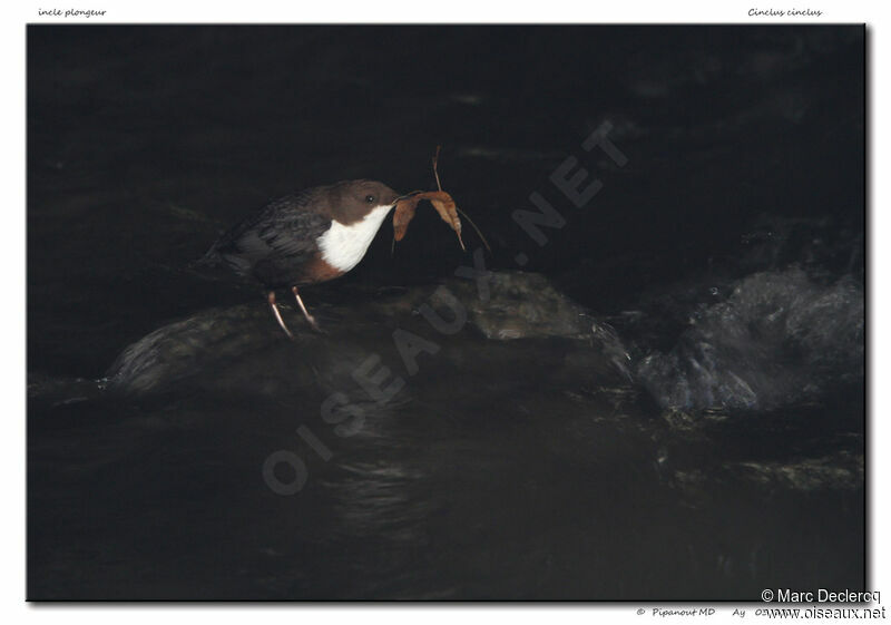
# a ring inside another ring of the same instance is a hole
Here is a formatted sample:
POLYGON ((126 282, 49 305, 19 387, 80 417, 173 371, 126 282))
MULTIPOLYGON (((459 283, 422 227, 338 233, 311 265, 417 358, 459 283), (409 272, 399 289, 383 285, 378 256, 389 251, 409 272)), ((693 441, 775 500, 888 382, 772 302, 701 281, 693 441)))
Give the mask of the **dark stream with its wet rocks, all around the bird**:
POLYGON ((862 28, 28 39, 29 597, 864 587, 862 28), (295 188, 433 188, 437 145, 482 292, 432 211, 305 291, 326 334, 286 307, 294 343, 187 270, 295 188))

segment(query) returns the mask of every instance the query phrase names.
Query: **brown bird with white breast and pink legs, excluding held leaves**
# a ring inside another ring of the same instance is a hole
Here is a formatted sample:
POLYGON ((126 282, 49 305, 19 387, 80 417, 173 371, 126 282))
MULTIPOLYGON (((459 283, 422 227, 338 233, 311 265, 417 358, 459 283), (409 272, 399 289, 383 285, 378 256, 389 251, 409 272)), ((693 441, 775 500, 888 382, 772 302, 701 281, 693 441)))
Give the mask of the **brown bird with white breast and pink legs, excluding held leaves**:
POLYGON ((221 236, 202 258, 253 277, 285 334, 291 331, 275 305, 275 290, 290 287, 306 321, 298 286, 340 277, 365 255, 400 195, 383 183, 344 180, 275 199, 221 236))

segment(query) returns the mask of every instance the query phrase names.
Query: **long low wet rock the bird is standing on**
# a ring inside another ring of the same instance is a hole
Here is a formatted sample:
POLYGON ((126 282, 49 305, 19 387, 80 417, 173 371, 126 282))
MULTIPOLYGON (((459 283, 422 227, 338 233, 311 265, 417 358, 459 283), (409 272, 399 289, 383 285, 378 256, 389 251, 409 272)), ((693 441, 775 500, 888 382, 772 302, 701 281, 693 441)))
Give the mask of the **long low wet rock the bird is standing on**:
POLYGON ((616 373, 628 379, 628 357, 615 332, 545 277, 493 273, 482 291, 481 285, 453 279, 398 294, 369 293, 350 305, 319 305, 313 312, 324 329, 321 334, 282 305, 295 332, 293 342, 260 302, 205 311, 126 348, 108 372, 108 388, 140 394, 187 384, 294 395, 301 389, 354 387, 359 375, 373 375, 380 365, 404 368, 413 375, 425 358, 466 372, 486 363, 491 369, 480 377, 491 379, 492 372, 525 362, 536 349, 554 348, 555 340, 579 343, 551 350, 560 354, 551 368, 566 371, 568 379, 616 373), (551 343, 495 345, 520 339, 551 343))

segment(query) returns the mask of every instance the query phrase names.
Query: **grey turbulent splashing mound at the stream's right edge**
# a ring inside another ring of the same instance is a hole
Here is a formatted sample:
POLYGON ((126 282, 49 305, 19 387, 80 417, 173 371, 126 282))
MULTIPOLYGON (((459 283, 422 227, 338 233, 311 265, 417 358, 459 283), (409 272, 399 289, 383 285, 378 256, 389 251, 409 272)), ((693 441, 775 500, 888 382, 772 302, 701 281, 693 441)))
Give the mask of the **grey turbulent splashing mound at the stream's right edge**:
POLYGON ((850 277, 830 284, 799 267, 753 274, 699 309, 668 353, 640 360, 665 408, 768 409, 863 379, 864 300, 850 277))

